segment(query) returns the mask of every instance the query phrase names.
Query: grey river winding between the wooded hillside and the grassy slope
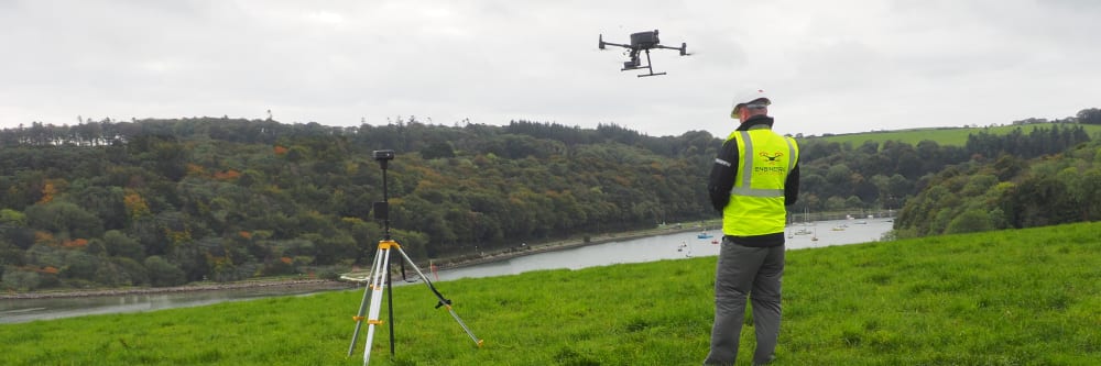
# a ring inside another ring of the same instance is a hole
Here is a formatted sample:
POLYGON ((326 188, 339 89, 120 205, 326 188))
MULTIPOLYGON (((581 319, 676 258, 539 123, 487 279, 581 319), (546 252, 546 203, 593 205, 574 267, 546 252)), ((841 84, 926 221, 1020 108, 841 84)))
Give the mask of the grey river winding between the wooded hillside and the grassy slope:
MULTIPOLYGON (((838 220, 813 222, 809 226, 789 226, 787 248, 800 249, 830 245, 874 242, 891 230, 889 219, 838 220), (805 229, 809 234, 795 235, 805 229), (813 240, 816 237, 817 240, 813 240)), ((712 237, 699 239, 700 233, 657 235, 621 242, 593 244, 556 252, 542 252, 469 267, 426 273, 433 281, 516 275, 525 271, 569 268, 579 269, 623 263, 715 256, 721 233, 707 232, 712 237)), ((393 259, 393 258, 391 258, 393 259)), ((427 268, 422 268, 427 270, 427 268)), ((399 281, 395 281, 396 285, 399 281)), ((155 311, 172 308, 199 307, 226 301, 241 301, 276 296, 309 296, 317 289, 244 288, 229 290, 118 295, 83 298, 2 299, 0 323, 22 323, 90 314, 155 311)), ((349 304, 355 307, 356 304, 349 304)))

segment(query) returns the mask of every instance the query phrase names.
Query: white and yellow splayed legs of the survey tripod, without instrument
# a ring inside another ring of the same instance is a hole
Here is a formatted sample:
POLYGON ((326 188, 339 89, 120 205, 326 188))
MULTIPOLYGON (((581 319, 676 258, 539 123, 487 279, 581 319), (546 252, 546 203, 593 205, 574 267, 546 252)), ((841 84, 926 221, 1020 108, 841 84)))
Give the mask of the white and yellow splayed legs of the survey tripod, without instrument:
MULTIPOLYGON (((408 263, 411 266, 413 266, 413 269, 416 270, 417 276, 421 277, 421 280, 424 281, 425 286, 428 286, 428 289, 432 290, 434 295, 436 295, 436 298, 439 299, 439 302, 436 304, 436 308, 446 307, 447 312, 451 314, 451 318, 454 318, 457 323, 459 323, 459 326, 462 328, 462 331, 466 332, 468 336, 470 336, 470 340, 472 340, 477 346, 481 347, 482 340, 479 340, 475 335, 475 333, 470 331, 470 328, 462 322, 462 319, 460 319, 459 315, 455 313, 455 309, 451 309, 451 300, 444 298, 444 296, 436 290, 436 287, 432 285, 430 280, 428 280, 428 276, 425 276, 424 273, 421 271, 421 268, 417 267, 412 259, 410 259, 408 255, 405 254, 405 251, 402 249, 401 245, 399 245, 397 242, 392 240, 383 240, 379 242, 379 252, 375 254, 374 264, 371 266, 371 277, 369 279, 368 286, 363 289, 363 300, 359 304, 359 313, 352 318, 353 320, 356 320, 356 331, 352 333, 351 345, 348 346, 348 356, 351 356, 351 354, 356 350, 356 341, 359 339, 359 330, 362 325, 362 322, 366 320, 368 325, 367 325, 367 344, 363 350, 363 366, 367 366, 367 363, 371 358, 371 344, 374 341, 374 325, 382 324, 382 321, 379 320, 379 313, 381 312, 382 308, 382 289, 392 288, 390 286, 390 279, 389 279, 390 251, 392 249, 397 249, 397 253, 402 255, 402 259, 405 259, 405 263, 408 263), (369 311, 367 318, 363 317, 364 311, 369 311)), ((393 309, 392 292, 390 293, 388 300, 390 300, 390 353, 393 354, 394 309, 393 309)))

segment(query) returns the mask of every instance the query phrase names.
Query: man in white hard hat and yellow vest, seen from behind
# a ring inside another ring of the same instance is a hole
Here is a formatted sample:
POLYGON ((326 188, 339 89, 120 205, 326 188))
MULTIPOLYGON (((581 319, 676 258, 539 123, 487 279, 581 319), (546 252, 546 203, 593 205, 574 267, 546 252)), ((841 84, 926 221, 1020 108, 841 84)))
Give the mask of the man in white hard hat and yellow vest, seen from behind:
POLYGON ((715 274, 715 325, 705 365, 733 365, 745 317, 753 304, 754 365, 774 358, 780 335, 784 275, 785 206, 799 195, 799 147, 772 131, 772 101, 763 90, 734 99, 730 117, 741 125, 727 137, 707 186, 722 212, 722 247, 715 274))

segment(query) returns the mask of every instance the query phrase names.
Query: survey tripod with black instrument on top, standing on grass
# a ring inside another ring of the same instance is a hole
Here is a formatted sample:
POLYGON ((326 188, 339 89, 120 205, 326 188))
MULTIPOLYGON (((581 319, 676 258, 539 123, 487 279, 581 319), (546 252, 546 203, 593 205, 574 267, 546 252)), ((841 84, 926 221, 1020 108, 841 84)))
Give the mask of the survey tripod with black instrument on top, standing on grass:
POLYGON ((348 356, 351 356, 352 352, 356 351, 356 341, 359 339, 359 331, 362 328, 363 321, 367 321, 367 344, 363 350, 363 366, 371 359, 371 344, 374 341, 374 326, 381 325, 382 321, 379 320, 379 312, 382 310, 382 289, 386 288, 386 300, 388 300, 388 320, 390 322, 390 355, 394 355, 394 289, 391 286, 390 278, 390 252, 396 249, 399 254, 402 255, 402 275, 405 274, 405 263, 413 266, 417 276, 424 281, 428 289, 432 290, 439 302, 436 303, 436 309, 439 307, 447 308, 447 312, 455 318, 455 321, 459 323, 462 331, 470 336, 470 340, 479 347, 482 345, 482 340, 475 336, 475 333, 467 328, 467 324, 459 319, 459 315, 455 313, 455 309, 451 309, 451 300, 444 298, 444 295, 436 290, 436 287, 432 285, 428 280, 428 276, 425 276, 421 268, 410 259, 402 246, 397 244, 390 236, 390 201, 386 197, 386 166, 388 162, 394 158, 394 151, 383 149, 374 152, 374 159, 379 162, 382 167, 382 202, 374 202, 372 210, 377 219, 381 219, 383 222, 383 240, 379 241, 379 251, 374 254, 374 263, 371 265, 371 277, 369 278, 368 285, 363 288, 363 300, 359 304, 359 313, 352 317, 356 321, 356 331, 351 335, 351 345, 348 346, 348 356), (367 311, 368 306, 370 306, 370 313, 367 318, 363 317, 364 311, 367 311))

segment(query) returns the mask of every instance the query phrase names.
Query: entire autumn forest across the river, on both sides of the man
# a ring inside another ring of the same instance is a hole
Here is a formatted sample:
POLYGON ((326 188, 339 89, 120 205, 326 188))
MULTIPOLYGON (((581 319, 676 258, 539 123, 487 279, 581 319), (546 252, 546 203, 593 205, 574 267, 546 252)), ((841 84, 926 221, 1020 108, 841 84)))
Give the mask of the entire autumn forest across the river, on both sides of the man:
MULTIPOLYGON (((327 277, 369 264, 382 237, 375 149, 396 152, 392 232, 415 260, 695 222, 718 217, 705 187, 724 137, 415 117, 34 122, 0 131, 0 288, 327 277)), ((799 138, 791 209, 901 209, 900 236, 1097 220, 1095 140, 1073 123, 972 134, 966 146, 799 138)))

